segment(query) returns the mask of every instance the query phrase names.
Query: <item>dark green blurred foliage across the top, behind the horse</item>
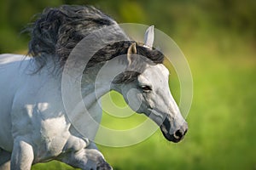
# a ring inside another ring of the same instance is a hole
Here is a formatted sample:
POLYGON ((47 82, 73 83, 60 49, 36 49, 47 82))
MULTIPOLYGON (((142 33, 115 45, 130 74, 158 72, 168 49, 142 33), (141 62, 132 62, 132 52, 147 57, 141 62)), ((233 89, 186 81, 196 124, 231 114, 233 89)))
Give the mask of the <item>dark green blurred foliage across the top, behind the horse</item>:
POLYGON ((224 31, 256 39, 256 1, 245 0, 2 0, 0 53, 26 49, 29 37, 21 34, 32 16, 61 4, 91 4, 121 23, 154 25, 172 37, 191 38, 224 31))

